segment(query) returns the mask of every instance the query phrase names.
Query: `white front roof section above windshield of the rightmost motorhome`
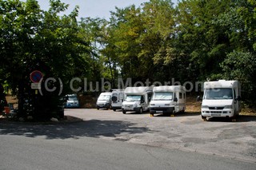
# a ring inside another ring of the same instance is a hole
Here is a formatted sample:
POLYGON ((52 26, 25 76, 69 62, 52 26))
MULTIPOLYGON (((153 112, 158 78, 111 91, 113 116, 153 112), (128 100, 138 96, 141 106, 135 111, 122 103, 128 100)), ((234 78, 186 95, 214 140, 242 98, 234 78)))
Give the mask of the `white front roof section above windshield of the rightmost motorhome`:
POLYGON ((216 89, 216 88, 234 88, 238 87, 238 81, 206 81, 204 83, 204 89, 216 89))

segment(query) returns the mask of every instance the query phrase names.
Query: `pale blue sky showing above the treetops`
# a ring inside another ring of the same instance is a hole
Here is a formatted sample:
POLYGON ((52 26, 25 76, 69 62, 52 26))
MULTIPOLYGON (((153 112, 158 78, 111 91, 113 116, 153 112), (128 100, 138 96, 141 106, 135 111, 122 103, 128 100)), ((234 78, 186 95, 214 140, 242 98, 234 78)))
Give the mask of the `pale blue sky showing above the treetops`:
MULTIPOLYGON (((118 8, 125 8, 130 5, 140 6, 143 2, 150 2, 150 0, 62 0, 62 2, 69 4, 66 14, 70 14, 74 10, 74 6, 79 6, 78 18, 110 18, 110 11, 115 11, 115 6, 118 8)), ((173 0, 177 2, 177 0, 173 0)), ((49 9, 48 0, 38 0, 42 10, 49 9)))

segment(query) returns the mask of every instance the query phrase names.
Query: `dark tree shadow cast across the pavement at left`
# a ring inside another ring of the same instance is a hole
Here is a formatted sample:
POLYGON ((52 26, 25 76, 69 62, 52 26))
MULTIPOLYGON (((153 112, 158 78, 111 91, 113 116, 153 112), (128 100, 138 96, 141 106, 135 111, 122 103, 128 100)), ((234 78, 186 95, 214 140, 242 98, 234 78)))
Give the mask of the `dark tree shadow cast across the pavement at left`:
POLYGON ((138 127, 128 121, 90 120, 72 124, 28 125, 2 124, 0 135, 17 135, 27 137, 46 136, 46 139, 67 139, 89 137, 115 137, 121 133, 136 134, 151 132, 149 128, 138 127))

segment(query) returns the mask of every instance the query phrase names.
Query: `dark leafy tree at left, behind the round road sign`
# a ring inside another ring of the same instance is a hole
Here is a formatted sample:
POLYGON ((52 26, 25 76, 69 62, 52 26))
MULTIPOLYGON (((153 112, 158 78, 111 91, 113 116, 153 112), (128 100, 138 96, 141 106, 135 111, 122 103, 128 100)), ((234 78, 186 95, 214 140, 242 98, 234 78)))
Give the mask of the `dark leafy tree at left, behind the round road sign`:
MULTIPOLYGON (((48 11, 40 10, 35 0, 0 1, 1 77, 18 94, 20 117, 27 113, 23 106, 36 98, 30 89, 33 70, 41 70, 45 78, 60 78, 64 87, 71 77, 87 73, 84 53, 90 49, 78 36, 78 7, 71 14, 60 16, 67 7, 59 0, 50 0, 48 11)), ((50 117, 58 105, 55 93, 45 93, 37 100, 29 105, 34 108, 40 104, 37 113, 41 112, 42 117, 50 117)))

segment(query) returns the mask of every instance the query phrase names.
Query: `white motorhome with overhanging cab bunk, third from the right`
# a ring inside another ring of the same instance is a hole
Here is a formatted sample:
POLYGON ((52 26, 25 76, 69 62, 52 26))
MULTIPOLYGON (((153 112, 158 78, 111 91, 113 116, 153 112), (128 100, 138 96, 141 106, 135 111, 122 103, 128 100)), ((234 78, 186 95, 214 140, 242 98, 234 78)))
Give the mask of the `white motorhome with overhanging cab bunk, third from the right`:
POLYGON ((151 96, 153 93, 152 86, 127 87, 124 91, 125 101, 122 102, 122 113, 127 111, 142 113, 149 109, 151 96))

